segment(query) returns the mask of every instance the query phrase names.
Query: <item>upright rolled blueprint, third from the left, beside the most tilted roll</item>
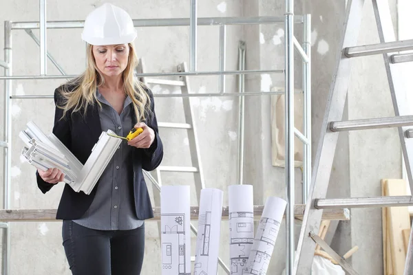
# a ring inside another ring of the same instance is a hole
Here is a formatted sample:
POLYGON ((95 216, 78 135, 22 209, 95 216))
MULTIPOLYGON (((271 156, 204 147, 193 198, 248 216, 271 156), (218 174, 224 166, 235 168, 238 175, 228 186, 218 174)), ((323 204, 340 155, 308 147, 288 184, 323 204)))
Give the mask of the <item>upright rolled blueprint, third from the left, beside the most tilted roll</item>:
POLYGON ((231 185, 228 197, 230 272, 242 275, 254 241, 253 186, 231 185))

